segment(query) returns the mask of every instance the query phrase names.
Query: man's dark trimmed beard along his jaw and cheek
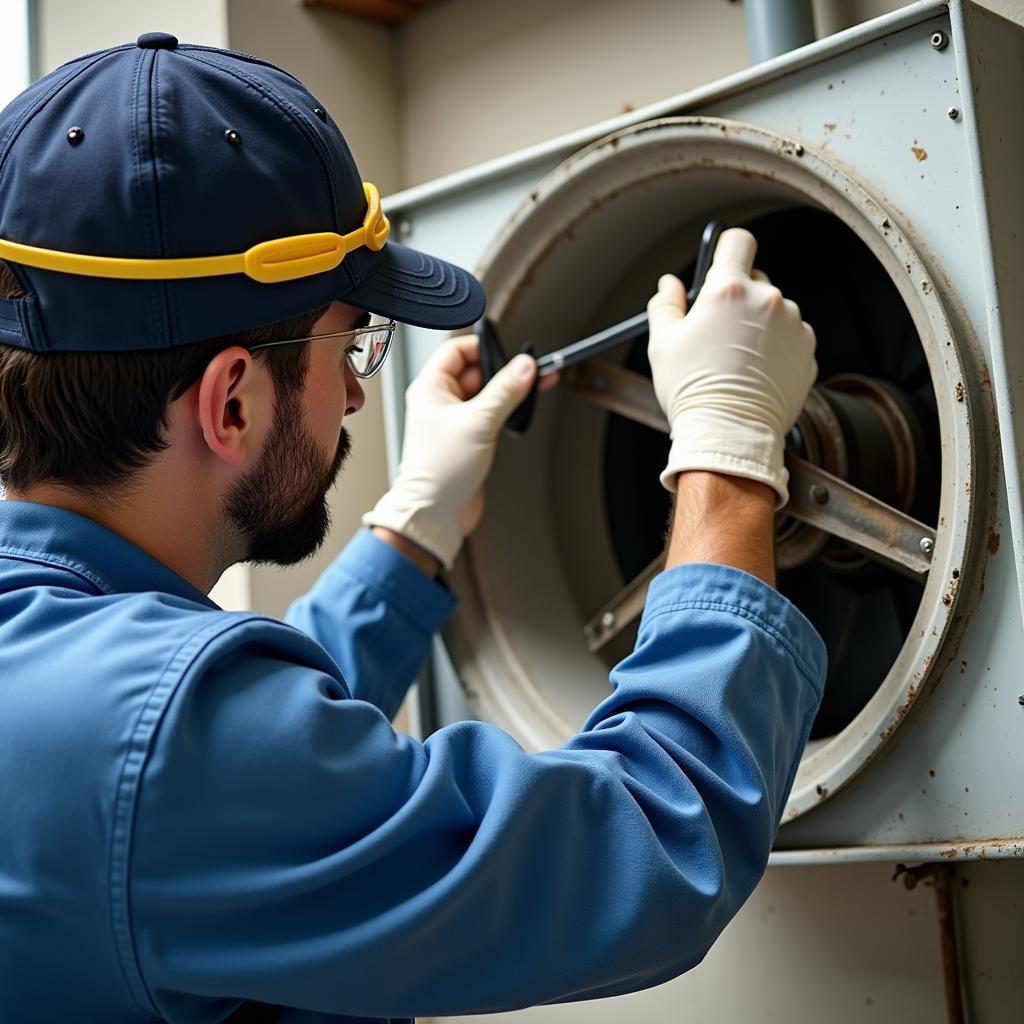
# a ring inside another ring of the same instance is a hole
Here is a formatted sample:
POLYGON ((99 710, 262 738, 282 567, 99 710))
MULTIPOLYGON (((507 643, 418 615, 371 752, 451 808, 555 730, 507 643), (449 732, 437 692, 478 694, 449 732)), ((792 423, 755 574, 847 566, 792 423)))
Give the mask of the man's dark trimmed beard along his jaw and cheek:
POLYGON ((331 528, 327 495, 351 451, 342 428, 331 459, 302 423, 298 395, 279 401, 259 461, 227 493, 225 512, 246 545, 243 561, 295 565, 331 528))

